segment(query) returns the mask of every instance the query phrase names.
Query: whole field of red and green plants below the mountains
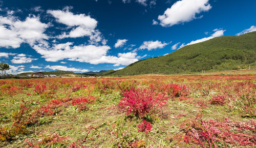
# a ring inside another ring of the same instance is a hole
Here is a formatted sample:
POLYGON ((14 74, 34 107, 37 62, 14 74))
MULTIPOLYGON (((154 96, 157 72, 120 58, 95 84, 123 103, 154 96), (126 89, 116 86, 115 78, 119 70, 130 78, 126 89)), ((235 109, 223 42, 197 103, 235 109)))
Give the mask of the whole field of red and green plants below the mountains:
POLYGON ((0 80, 0 147, 255 147, 256 75, 0 80))

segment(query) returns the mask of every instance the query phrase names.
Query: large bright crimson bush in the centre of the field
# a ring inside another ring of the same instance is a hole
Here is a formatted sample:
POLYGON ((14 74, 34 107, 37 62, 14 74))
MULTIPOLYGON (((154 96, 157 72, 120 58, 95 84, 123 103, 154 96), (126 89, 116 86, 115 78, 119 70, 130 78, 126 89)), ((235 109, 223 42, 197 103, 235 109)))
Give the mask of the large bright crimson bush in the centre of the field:
POLYGON ((133 113, 139 117, 154 112, 158 107, 161 108, 166 104, 164 100, 167 100, 164 94, 142 88, 133 88, 124 92, 123 96, 118 104, 120 109, 126 111, 127 115, 133 113))

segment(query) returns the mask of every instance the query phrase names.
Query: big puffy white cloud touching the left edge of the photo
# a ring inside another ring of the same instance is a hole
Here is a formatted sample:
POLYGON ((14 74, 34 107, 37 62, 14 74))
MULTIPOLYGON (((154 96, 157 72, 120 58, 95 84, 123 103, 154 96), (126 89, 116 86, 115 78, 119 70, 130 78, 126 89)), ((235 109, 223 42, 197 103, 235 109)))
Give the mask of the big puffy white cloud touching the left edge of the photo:
POLYGON ((0 16, 0 47, 18 48, 21 43, 33 45, 36 42, 43 42, 44 39, 48 39, 44 34, 48 26, 34 15, 24 21, 12 15, 0 16))

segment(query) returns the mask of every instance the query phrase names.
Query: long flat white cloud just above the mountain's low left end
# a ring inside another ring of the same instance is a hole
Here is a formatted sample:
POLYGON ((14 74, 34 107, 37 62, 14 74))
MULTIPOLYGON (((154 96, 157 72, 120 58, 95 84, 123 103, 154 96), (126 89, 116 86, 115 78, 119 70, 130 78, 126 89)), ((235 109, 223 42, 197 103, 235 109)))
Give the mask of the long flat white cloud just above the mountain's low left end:
POLYGON ((137 53, 127 52, 118 53, 118 56, 107 55, 109 46, 95 45, 77 45, 71 46, 73 43, 54 44, 52 48, 43 44, 35 45, 33 48, 49 62, 57 62, 60 60, 86 62, 90 64, 120 64, 129 65, 138 61, 137 53))

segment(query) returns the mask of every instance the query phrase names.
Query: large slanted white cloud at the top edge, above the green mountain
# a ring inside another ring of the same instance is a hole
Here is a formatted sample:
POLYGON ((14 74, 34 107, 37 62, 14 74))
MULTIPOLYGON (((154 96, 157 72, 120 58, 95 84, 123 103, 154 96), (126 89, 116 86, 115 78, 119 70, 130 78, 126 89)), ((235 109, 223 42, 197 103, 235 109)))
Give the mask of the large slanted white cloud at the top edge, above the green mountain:
POLYGON ((167 8, 163 15, 158 16, 160 25, 172 26, 184 22, 191 21, 197 17, 196 14, 208 11, 211 9, 209 0, 182 0, 176 2, 172 7, 167 8))

